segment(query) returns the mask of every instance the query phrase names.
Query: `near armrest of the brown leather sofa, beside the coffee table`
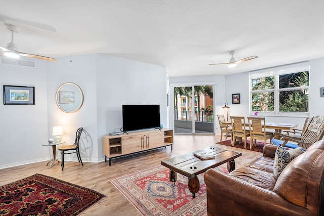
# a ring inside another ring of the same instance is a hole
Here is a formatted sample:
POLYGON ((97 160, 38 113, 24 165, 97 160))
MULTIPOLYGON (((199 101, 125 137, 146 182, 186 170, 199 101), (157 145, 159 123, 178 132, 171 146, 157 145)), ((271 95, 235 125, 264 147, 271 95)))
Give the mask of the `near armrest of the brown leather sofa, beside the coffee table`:
POLYGON ((208 215, 310 215, 304 207, 295 205, 269 191, 216 169, 205 172, 208 215), (248 212, 247 212, 248 211, 248 212))

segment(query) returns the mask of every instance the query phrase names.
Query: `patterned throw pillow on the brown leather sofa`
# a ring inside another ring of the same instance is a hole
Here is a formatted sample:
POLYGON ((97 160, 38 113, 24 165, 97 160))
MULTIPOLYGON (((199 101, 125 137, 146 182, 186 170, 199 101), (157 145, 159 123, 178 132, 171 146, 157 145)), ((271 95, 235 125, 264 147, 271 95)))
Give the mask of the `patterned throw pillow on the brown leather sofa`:
POLYGON ((281 146, 278 146, 274 155, 273 175, 279 177, 288 163, 301 154, 302 147, 286 150, 281 146))

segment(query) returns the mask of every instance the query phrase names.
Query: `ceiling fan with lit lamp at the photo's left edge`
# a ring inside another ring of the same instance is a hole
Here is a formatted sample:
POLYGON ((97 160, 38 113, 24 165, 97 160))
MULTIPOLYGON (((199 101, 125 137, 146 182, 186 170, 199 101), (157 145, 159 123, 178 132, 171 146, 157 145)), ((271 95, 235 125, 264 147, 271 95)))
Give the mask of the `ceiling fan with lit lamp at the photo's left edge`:
POLYGON ((7 44, 7 47, 2 47, 0 46, 0 49, 4 51, 4 53, 0 53, 1 55, 10 57, 10 58, 19 58, 20 56, 26 56, 26 57, 30 57, 30 58, 36 58, 36 59, 41 59, 41 60, 46 60, 46 61, 52 61, 52 62, 56 62, 56 59, 50 58, 50 57, 46 57, 46 56, 38 56, 38 55, 34 55, 34 54, 28 54, 28 53, 22 53, 19 52, 17 49, 17 45, 15 45, 14 43, 14 32, 18 32, 18 27, 9 23, 5 23, 5 26, 7 27, 7 29, 9 31, 11 31, 11 42, 9 44, 7 44))

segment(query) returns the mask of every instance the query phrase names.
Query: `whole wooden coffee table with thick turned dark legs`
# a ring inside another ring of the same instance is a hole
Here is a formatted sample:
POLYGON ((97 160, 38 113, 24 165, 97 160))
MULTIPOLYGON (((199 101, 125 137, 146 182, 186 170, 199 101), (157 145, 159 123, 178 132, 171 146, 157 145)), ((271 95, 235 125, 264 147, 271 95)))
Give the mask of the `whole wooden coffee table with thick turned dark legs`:
POLYGON ((195 198, 195 194, 199 191, 199 180, 197 175, 207 171, 207 169, 215 168, 226 162, 228 171, 233 171, 235 169, 234 159, 242 156, 241 152, 221 149, 215 146, 209 146, 199 150, 199 152, 201 151, 215 155, 215 159, 201 160, 193 155, 193 153, 198 152, 195 151, 161 161, 162 165, 170 169, 170 181, 173 184, 177 181, 177 173, 188 177, 188 188, 193 198, 195 198))

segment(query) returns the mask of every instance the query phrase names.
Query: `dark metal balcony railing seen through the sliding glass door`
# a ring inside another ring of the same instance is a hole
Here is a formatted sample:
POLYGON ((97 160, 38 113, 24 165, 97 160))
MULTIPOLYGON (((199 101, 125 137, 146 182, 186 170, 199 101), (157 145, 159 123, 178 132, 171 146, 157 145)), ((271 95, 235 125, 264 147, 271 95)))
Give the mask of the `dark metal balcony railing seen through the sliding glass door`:
MULTIPOLYGON (((174 111, 174 120, 192 121, 192 111, 174 111)), ((214 122, 214 111, 194 111, 194 120, 201 122, 214 122)))

